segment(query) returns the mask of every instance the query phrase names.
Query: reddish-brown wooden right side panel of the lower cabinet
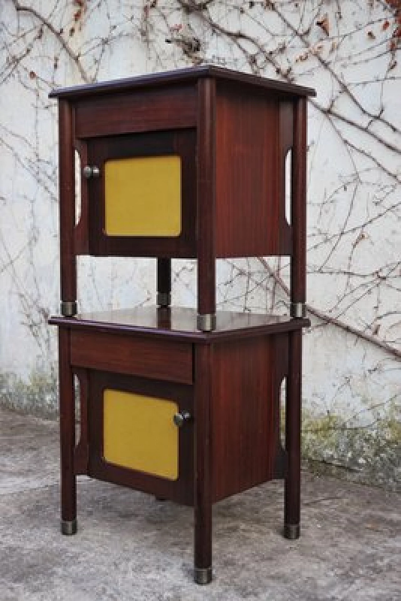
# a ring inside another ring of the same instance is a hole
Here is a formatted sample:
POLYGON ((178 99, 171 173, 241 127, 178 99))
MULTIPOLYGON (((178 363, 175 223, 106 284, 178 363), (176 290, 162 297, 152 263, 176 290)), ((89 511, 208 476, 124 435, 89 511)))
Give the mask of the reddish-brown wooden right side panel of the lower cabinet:
POLYGON ((215 346, 213 501, 274 477, 278 453, 275 337, 215 346))

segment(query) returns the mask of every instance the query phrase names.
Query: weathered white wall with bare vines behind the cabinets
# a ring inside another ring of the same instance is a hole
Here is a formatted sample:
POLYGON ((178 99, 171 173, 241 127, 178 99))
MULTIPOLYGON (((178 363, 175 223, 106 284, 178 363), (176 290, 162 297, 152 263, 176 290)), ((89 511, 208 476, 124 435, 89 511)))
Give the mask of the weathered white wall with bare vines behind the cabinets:
MULTIPOLYGON (((400 486, 401 1, 4 0, 0 399, 57 413, 57 106, 49 91, 204 62, 316 88, 308 115, 303 444, 400 486)), ((78 261, 81 310, 150 304, 155 260, 78 261)), ((218 307, 287 313, 285 257, 218 261, 218 307)), ((194 306, 196 264, 173 261, 194 306)))

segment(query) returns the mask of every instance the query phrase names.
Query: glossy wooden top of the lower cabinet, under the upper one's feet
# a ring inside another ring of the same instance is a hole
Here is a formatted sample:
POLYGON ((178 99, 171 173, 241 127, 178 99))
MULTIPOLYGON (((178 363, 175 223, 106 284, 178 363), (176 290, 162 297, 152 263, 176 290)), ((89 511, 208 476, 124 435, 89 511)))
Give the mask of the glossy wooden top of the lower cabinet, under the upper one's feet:
POLYGON ((214 341, 290 332, 310 326, 308 319, 254 313, 216 313, 216 329, 201 332, 197 329, 197 312, 194 309, 173 307, 139 307, 114 311, 82 313, 75 317, 52 316, 51 325, 64 328, 139 334, 193 341, 214 341))

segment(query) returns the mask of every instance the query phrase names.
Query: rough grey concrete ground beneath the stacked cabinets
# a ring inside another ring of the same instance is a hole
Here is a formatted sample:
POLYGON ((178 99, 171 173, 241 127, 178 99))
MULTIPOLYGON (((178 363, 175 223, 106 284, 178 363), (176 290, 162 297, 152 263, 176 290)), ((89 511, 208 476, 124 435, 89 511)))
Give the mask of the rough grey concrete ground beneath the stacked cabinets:
POLYGON ((308 472, 302 531, 281 536, 283 483, 217 505, 207 587, 192 582, 192 510, 79 478, 59 531, 57 424, 0 410, 0 600, 401 599, 401 496, 308 472))

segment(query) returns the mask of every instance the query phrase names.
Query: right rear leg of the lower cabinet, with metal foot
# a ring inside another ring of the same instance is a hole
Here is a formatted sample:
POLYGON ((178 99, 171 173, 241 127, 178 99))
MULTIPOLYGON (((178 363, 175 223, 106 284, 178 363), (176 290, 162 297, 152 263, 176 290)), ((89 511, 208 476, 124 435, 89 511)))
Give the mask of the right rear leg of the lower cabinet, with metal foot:
POLYGON ((286 451, 288 468, 284 489, 284 536, 299 537, 301 507, 301 378, 302 332, 289 339, 289 377, 286 398, 286 451))

